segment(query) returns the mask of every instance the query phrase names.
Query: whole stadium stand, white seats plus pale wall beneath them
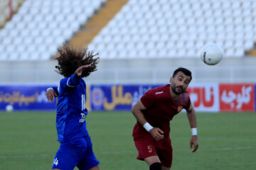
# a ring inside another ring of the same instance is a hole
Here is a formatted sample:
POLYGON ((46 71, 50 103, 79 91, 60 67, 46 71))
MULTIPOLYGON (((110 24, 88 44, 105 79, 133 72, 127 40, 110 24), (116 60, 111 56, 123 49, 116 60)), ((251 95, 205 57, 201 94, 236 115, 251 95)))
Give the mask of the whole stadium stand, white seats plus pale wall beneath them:
POLYGON ((191 69, 193 83, 255 82, 256 57, 243 56, 255 42, 256 1, 126 1, 26 0, 0 30, 1 84, 58 83, 62 77, 50 60, 57 47, 90 40, 90 50, 100 52, 91 84, 165 84, 181 66, 191 69), (119 12, 107 16, 113 11, 119 12), (97 30, 95 38, 87 38, 89 30, 97 30), (206 42, 223 47, 220 64, 199 59, 206 42))

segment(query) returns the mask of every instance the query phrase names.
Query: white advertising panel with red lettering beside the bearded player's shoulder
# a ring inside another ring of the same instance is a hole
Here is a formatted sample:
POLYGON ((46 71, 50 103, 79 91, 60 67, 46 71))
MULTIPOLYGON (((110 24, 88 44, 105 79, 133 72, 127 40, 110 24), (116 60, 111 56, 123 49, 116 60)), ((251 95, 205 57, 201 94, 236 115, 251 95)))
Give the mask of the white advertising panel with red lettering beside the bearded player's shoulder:
POLYGON ((218 88, 217 83, 190 84, 187 91, 195 110, 220 111, 218 88))

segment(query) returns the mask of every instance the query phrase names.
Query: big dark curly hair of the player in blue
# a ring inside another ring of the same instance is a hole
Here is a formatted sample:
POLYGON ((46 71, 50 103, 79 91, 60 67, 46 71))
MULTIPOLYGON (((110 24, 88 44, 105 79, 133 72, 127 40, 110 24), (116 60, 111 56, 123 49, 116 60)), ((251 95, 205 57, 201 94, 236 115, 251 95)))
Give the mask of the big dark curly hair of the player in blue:
POLYGON ((87 47, 79 49, 72 45, 64 44, 62 47, 58 48, 58 52, 60 56, 55 57, 55 60, 58 61, 58 65, 55 66, 57 69, 55 72, 63 75, 63 77, 70 77, 75 73, 78 67, 85 64, 90 64, 90 67, 82 71, 82 77, 87 77, 91 72, 97 70, 97 64, 100 58, 95 56, 97 56, 98 53, 94 54, 94 52, 88 51, 87 47))

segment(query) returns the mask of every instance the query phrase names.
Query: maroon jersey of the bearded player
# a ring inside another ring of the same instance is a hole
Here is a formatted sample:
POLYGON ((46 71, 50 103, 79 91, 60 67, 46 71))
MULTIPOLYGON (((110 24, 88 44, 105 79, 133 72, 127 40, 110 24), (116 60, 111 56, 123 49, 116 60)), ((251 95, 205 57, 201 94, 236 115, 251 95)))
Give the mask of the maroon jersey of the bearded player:
MULTIPOLYGON (((142 104, 146 107, 146 110, 142 111, 146 121, 153 127, 163 130, 165 137, 169 136, 170 120, 174 118, 174 115, 178 114, 183 108, 188 109, 191 105, 191 100, 186 91, 174 101, 171 98, 170 86, 170 84, 167 84, 146 91, 146 94, 141 98, 142 104)), ((142 131, 146 132, 142 125, 137 123, 134 127, 133 136, 136 137, 142 131)))

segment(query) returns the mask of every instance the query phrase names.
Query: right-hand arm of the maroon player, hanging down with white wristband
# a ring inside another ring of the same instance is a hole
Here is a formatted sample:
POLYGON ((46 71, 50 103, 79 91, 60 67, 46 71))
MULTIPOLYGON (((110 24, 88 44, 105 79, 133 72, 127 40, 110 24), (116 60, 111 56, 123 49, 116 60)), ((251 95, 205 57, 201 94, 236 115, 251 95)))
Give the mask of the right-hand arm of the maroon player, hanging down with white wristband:
POLYGON ((196 152, 199 146, 198 142, 198 134, 196 130, 196 112, 195 109, 193 108, 192 104, 187 110, 187 116, 188 116, 188 121, 191 126, 192 130, 192 136, 191 136, 191 141, 190 141, 190 148, 193 149, 192 152, 196 152))

